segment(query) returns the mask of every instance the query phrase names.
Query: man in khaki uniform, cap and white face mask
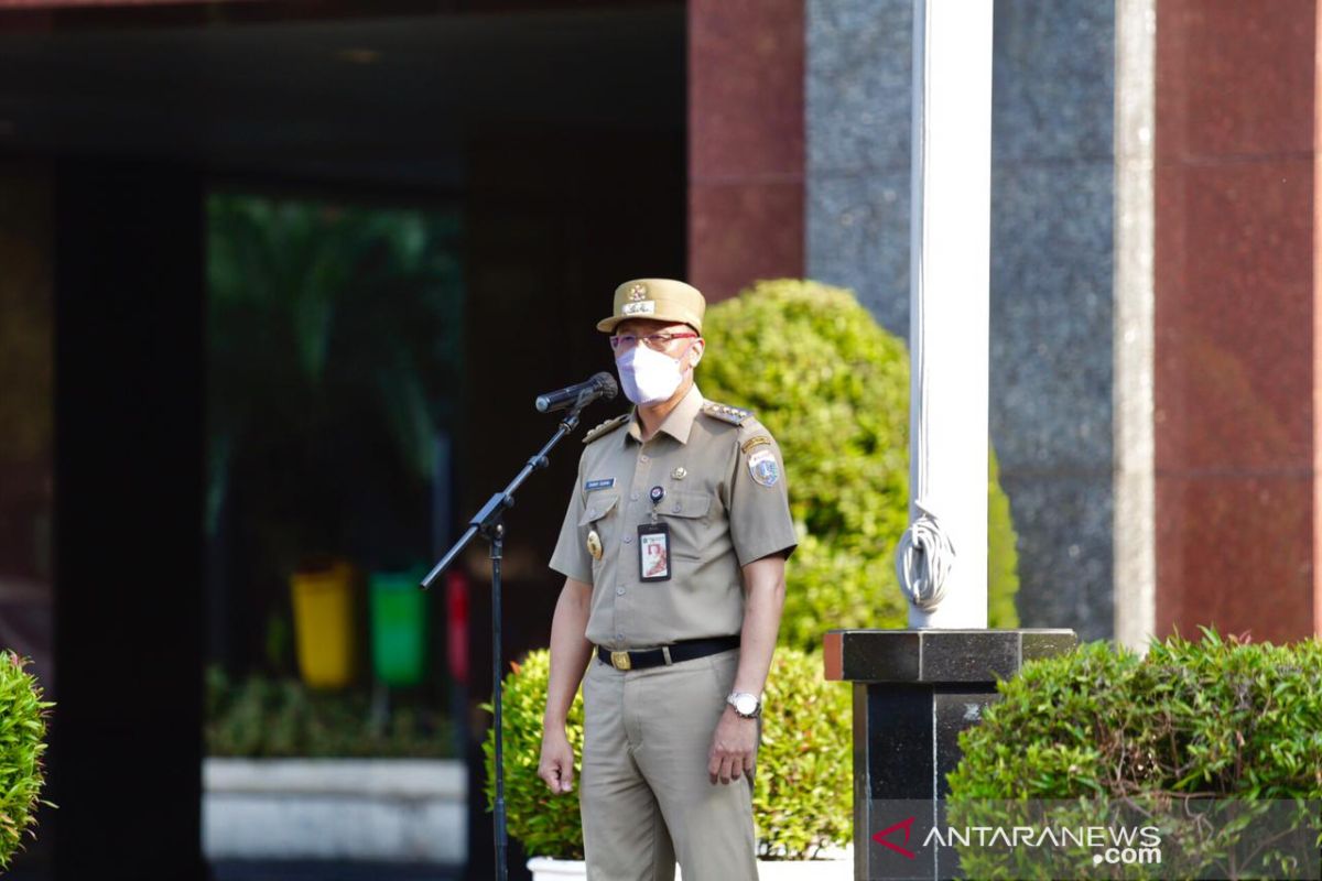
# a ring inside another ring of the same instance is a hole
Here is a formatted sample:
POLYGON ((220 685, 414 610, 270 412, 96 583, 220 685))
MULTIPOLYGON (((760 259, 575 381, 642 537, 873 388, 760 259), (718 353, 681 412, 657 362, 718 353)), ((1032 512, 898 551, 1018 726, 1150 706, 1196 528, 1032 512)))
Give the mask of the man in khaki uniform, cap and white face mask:
POLYGON ((584 437, 551 556, 566 580, 538 767, 572 790, 582 679, 590 881, 669 881, 676 859, 685 881, 758 877, 761 689, 797 539, 771 433, 693 383, 705 308, 682 281, 639 279, 598 324, 636 408, 584 437))

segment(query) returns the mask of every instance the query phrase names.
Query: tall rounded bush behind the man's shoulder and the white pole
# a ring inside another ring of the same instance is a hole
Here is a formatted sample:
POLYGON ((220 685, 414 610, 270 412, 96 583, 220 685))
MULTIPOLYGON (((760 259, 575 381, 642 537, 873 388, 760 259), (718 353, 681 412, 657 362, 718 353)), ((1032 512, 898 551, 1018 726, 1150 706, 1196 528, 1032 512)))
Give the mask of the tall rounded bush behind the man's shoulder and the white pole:
MULTIPOLYGON (((789 564, 785 645, 833 627, 904 627, 895 546, 908 526, 908 353, 842 288, 759 281, 713 305, 703 395, 756 411, 780 442, 801 543, 789 564)), ((988 622, 1018 626, 1010 505, 988 476, 988 622)))

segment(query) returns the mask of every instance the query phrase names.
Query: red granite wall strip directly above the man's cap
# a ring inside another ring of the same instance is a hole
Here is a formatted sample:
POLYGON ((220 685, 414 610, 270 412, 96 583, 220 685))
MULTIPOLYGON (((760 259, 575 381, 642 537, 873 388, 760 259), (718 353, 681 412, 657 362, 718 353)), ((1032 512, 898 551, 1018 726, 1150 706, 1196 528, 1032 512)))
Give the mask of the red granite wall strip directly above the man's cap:
POLYGON ((689 279, 802 273, 802 0, 689 0, 689 279))

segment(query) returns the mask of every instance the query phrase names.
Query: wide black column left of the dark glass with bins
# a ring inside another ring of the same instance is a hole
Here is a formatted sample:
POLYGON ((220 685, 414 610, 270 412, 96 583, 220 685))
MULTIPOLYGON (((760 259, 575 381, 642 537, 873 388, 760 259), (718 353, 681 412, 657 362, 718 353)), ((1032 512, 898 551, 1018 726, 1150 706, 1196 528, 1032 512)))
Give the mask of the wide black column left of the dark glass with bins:
POLYGON ((56 878, 204 878, 202 186, 56 177, 56 878))

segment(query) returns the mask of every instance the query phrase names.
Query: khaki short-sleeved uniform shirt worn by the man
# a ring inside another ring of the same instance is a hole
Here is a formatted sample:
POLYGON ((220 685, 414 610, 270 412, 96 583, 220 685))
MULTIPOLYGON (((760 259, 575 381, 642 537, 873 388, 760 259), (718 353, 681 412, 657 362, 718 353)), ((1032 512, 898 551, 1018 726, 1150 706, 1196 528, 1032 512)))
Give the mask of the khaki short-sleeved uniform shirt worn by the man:
POLYGON ((615 423, 588 435, 551 555, 553 569, 592 585, 587 638, 650 649, 738 634, 740 567, 789 556, 798 542, 776 441, 746 411, 705 402, 697 386, 645 444, 636 417, 615 423), (665 490, 656 506, 654 486, 665 490), (668 581, 640 579, 639 526, 653 514, 669 527, 668 581), (600 560, 588 551, 591 531, 600 560))

